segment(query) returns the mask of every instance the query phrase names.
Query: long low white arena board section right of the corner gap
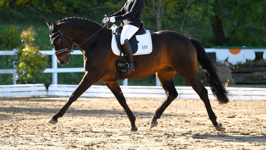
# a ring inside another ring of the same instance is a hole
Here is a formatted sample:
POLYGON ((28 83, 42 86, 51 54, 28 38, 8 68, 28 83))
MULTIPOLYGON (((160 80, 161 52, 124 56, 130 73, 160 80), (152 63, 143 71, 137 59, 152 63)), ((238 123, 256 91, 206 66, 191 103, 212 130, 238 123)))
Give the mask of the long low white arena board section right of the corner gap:
MULTIPOLYGON (((165 92, 162 87, 158 86, 120 86, 126 98, 165 98, 165 92)), ((77 85, 50 85, 48 95, 50 96, 70 96, 77 88, 77 85)), ((199 95, 192 87, 175 87, 178 92, 177 98, 200 99, 199 95)), ((208 90, 209 99, 216 99, 210 89, 208 90)), ((231 92, 231 100, 266 100, 266 88, 239 88, 227 87, 231 92)), ((106 86, 93 85, 81 97, 104 97, 115 98, 113 93, 106 86)))

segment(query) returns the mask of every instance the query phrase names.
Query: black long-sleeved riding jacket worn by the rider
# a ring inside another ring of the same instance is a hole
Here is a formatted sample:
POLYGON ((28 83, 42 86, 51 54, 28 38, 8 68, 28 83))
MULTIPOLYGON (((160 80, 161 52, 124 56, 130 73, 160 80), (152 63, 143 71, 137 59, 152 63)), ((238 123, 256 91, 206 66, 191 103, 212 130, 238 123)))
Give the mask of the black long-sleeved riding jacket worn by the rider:
POLYGON ((120 11, 108 17, 110 18, 114 16, 116 21, 123 20, 121 26, 134 25, 135 27, 140 28, 140 16, 144 6, 144 0, 128 0, 120 11))

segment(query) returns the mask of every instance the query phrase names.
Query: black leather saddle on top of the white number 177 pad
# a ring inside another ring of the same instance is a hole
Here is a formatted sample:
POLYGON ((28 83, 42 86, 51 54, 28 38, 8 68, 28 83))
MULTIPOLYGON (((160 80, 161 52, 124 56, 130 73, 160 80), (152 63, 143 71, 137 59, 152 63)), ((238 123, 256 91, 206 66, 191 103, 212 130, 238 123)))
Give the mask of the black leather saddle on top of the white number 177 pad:
MULTIPOLYGON (((116 41, 117 41, 118 49, 121 52, 124 52, 124 50, 122 48, 122 45, 120 43, 120 37, 121 37, 122 30, 123 30, 123 27, 122 26, 119 26, 116 29, 116 32, 113 32, 113 34, 116 36, 116 41)), ((143 35, 145 33, 146 33, 146 30, 145 30, 145 27, 144 27, 144 22, 141 22, 140 29, 129 39, 129 44, 130 44, 130 46, 132 48, 133 54, 137 52, 137 50, 138 50, 138 43, 140 43, 139 41, 137 41, 136 35, 143 35)))

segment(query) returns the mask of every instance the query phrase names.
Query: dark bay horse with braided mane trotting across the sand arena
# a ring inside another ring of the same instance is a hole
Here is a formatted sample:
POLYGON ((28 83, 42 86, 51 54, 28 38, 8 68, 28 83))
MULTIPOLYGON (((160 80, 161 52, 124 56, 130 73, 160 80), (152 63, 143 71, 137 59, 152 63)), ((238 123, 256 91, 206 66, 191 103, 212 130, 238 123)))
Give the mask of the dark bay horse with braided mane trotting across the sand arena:
MULTIPOLYGON (((112 30, 100 26, 88 19, 71 17, 57 22, 46 22, 50 28, 51 43, 55 48, 58 63, 66 65, 70 61, 73 42, 78 45, 84 56, 83 76, 77 89, 69 96, 66 104, 50 119, 48 123, 55 124, 62 117, 69 106, 77 100, 90 86, 103 81, 114 94, 128 116, 130 131, 137 131, 135 116, 126 104, 126 99, 121 91, 117 79, 117 64, 119 56, 111 49, 112 30), (103 29, 103 30, 101 30, 103 29), (97 34, 95 34, 98 32, 97 34), (92 36, 93 35, 93 36, 92 36), (91 37, 88 40, 88 37, 91 37), (87 39, 87 40, 86 40, 87 39), (81 44, 82 43, 82 44, 81 44)), ((156 74, 163 87, 166 99, 154 112, 150 121, 150 128, 158 124, 164 110, 178 96, 173 84, 176 73, 182 76, 192 86, 204 102, 207 113, 217 131, 222 129, 222 124, 217 123, 216 116, 211 108, 207 89, 202 85, 197 76, 197 61, 204 71, 207 83, 220 104, 228 102, 230 93, 221 83, 215 67, 207 56, 202 44, 195 39, 181 35, 174 31, 159 31, 151 33, 153 51, 146 55, 134 56, 136 70, 125 74, 126 79, 140 79, 156 74)))

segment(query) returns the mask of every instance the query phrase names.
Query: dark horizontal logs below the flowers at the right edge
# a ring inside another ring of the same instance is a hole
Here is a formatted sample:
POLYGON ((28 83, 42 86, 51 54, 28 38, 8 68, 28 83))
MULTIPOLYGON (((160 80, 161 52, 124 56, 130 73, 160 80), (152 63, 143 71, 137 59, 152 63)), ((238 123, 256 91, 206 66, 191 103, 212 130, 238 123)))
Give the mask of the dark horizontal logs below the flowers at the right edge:
POLYGON ((236 84, 266 84, 266 67, 235 68, 232 77, 236 84))

